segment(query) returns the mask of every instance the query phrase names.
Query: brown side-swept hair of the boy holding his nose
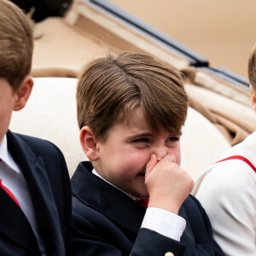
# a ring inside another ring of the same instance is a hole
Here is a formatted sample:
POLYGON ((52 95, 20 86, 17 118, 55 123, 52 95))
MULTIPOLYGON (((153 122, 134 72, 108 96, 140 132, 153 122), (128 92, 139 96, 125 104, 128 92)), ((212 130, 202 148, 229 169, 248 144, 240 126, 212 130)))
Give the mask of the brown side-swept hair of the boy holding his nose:
POLYGON ((105 140, 109 128, 141 107, 148 128, 179 132, 189 106, 180 72, 152 56, 123 52, 90 61, 77 87, 79 128, 105 140))

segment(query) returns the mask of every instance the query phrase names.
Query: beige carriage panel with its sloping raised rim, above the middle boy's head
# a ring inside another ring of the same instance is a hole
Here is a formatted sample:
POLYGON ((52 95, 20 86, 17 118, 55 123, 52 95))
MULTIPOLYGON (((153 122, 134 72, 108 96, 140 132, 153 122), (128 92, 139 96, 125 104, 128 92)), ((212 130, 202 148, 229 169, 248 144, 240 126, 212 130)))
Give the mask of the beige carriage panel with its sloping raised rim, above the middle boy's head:
POLYGON ((148 53, 177 69, 189 66, 183 57, 84 1, 73 3, 65 18, 49 17, 36 29, 42 36, 35 40, 34 77, 76 77, 87 61, 108 50, 148 53))

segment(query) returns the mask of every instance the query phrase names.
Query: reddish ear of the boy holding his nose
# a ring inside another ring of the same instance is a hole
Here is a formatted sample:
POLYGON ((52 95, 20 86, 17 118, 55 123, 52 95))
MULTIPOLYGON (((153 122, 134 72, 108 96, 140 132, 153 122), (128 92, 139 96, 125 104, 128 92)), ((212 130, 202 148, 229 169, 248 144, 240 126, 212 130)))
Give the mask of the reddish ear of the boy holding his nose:
POLYGON ((99 150, 93 131, 88 126, 84 126, 80 131, 80 143, 84 154, 90 161, 99 160, 99 150))

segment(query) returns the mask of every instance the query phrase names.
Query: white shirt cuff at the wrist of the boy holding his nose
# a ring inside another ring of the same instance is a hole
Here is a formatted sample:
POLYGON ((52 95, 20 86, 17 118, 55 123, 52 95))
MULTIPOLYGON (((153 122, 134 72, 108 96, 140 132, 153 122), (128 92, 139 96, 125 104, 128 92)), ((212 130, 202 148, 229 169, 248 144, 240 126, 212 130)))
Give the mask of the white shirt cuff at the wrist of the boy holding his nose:
POLYGON ((154 230, 163 236, 180 241, 186 227, 184 218, 166 210, 148 207, 141 228, 154 230))

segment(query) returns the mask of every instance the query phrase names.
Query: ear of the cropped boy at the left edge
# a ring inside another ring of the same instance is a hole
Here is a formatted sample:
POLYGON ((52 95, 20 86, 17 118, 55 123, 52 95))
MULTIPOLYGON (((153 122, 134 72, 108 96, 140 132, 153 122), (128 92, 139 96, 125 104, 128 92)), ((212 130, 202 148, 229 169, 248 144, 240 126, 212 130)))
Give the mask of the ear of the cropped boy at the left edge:
POLYGON ((26 102, 28 101, 28 98, 32 92, 33 84, 34 82, 31 76, 26 76, 26 78, 23 79, 20 87, 15 91, 15 111, 18 111, 26 106, 26 102))

